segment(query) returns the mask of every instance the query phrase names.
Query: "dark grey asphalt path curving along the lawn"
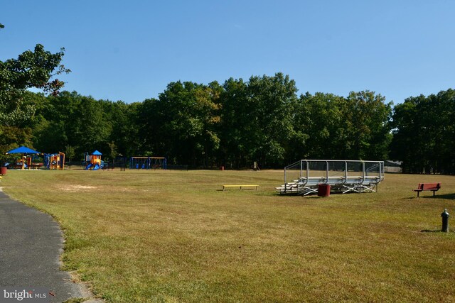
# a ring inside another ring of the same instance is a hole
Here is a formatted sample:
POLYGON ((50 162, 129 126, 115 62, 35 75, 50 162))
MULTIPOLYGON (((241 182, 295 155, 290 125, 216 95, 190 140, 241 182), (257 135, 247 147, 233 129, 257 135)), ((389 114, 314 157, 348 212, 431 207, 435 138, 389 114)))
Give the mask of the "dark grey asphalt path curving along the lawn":
POLYGON ((51 216, 10 199, 0 189, 0 290, 46 289, 55 294, 50 302, 90 295, 60 270, 62 248, 62 232, 51 216))

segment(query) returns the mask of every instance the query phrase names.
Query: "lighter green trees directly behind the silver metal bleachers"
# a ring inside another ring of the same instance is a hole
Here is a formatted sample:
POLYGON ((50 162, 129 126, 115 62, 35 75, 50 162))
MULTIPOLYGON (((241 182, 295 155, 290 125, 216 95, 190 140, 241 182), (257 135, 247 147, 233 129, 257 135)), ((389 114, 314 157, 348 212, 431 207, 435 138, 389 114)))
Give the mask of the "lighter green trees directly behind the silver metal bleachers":
POLYGON ((304 158, 386 159, 391 103, 373 92, 301 95, 294 148, 304 158))

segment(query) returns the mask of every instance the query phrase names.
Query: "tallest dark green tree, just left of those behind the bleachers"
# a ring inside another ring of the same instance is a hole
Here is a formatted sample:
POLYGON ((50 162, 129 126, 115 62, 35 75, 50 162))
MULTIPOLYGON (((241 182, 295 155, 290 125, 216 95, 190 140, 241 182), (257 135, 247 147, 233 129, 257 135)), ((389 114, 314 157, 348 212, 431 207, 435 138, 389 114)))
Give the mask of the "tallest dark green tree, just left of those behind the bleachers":
POLYGON ((297 97, 294 80, 274 77, 228 79, 221 94, 221 150, 232 166, 284 165, 294 131, 297 97))

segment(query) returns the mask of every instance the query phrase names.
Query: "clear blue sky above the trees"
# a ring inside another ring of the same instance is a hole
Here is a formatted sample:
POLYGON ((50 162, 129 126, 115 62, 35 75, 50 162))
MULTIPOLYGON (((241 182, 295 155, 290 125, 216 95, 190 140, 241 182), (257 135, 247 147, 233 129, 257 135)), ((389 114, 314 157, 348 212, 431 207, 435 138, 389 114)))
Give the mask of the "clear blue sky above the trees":
POLYGON ((65 48, 65 89, 144 101, 169 82, 283 72, 299 94, 401 103, 455 88, 455 1, 2 1, 0 60, 65 48))

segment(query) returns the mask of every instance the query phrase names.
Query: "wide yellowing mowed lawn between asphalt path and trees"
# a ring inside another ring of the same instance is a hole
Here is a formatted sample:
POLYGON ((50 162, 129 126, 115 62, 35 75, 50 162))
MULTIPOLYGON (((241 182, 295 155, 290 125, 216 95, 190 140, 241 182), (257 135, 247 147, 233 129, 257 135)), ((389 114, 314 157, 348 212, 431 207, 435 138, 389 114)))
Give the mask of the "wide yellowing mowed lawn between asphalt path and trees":
POLYGON ((107 302, 455 302, 455 177, 389 174, 378 193, 324 198, 280 196, 282 182, 71 170, 9 171, 1 186, 60 222, 65 270, 107 302), (417 199, 419 182, 442 188, 417 199))

